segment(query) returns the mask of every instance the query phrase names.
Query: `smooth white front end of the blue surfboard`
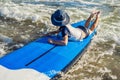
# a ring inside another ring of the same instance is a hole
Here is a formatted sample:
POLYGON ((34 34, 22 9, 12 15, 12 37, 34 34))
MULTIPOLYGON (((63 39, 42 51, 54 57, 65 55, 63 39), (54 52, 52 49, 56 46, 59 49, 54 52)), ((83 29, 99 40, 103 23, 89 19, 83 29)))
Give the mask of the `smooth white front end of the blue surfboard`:
POLYGON ((43 73, 32 69, 10 70, 0 65, 0 80, 49 80, 43 73))

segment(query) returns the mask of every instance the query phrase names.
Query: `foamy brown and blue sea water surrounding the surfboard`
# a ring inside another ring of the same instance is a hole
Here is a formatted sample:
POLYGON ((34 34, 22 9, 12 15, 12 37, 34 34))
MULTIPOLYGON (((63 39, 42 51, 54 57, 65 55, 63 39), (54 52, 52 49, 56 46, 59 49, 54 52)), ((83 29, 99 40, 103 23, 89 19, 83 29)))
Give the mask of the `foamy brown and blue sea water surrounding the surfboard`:
POLYGON ((50 21, 56 9, 71 23, 101 11, 89 48, 58 80, 120 80, 120 0, 0 0, 0 57, 56 30, 50 21))

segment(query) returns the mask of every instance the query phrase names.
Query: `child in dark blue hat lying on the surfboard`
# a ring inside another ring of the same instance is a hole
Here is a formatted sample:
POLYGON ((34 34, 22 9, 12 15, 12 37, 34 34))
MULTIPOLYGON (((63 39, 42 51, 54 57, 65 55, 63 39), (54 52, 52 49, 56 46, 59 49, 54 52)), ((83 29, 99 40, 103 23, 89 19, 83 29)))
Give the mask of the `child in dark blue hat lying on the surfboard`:
POLYGON ((56 31, 49 32, 46 35, 52 35, 61 32, 62 40, 54 40, 49 38, 48 42, 56 45, 67 45, 68 40, 72 39, 75 41, 80 41, 86 38, 98 25, 99 14, 100 11, 92 12, 84 26, 75 28, 69 24, 70 17, 65 11, 56 10, 51 16, 51 22, 53 25, 59 26, 60 28, 56 31), (95 17, 95 20, 92 27, 89 29, 88 26, 93 17, 95 17))

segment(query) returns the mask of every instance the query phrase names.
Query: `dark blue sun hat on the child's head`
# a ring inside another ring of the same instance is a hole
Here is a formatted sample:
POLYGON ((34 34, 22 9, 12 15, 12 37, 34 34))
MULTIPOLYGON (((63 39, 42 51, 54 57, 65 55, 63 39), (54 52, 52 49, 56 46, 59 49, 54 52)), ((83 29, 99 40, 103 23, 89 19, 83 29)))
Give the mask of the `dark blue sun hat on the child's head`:
POLYGON ((65 26, 70 22, 70 17, 63 10, 56 10, 51 16, 51 22, 55 26, 65 26))

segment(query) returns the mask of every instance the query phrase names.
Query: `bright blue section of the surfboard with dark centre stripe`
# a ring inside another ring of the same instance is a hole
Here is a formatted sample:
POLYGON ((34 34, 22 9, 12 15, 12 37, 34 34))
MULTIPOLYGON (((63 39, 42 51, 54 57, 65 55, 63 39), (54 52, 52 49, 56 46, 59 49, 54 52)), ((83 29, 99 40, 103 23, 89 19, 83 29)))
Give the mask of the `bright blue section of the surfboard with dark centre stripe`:
MULTIPOLYGON (((84 24, 85 20, 71 25, 78 27, 84 24)), ((23 68, 34 69, 52 79, 58 73, 65 70, 78 55, 82 55, 82 51, 91 42, 95 33, 96 30, 82 41, 69 41, 67 46, 58 46, 47 42, 48 38, 58 39, 56 36, 41 37, 2 57, 0 65, 12 70, 23 68)))

